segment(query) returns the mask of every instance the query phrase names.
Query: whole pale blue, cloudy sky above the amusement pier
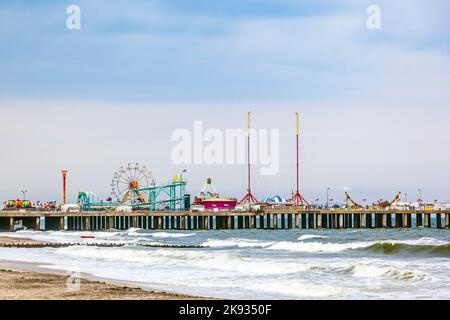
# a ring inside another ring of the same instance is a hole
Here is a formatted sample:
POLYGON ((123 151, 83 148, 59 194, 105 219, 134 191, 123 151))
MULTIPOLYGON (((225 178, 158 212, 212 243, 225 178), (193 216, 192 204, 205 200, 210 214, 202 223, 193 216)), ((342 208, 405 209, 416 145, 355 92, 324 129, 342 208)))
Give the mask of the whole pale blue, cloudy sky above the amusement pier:
POLYGON ((259 199, 295 186, 309 200, 450 200, 448 1, 0 0, 0 199, 108 197, 114 172, 186 169, 242 197, 244 165, 175 165, 171 133, 280 130, 280 171, 253 171, 259 199), (66 9, 81 8, 68 30, 66 9), (381 29, 366 26, 369 5, 381 29))

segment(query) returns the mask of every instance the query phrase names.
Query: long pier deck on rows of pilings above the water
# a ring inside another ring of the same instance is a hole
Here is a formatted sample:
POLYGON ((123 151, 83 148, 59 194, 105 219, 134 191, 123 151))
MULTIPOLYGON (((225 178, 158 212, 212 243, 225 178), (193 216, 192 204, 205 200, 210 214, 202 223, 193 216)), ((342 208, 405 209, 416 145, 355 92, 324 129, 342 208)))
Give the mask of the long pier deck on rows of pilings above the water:
POLYGON ((262 212, 188 211, 0 211, 0 231, 29 230, 228 230, 228 229, 358 229, 450 228, 450 210, 305 210, 262 212))

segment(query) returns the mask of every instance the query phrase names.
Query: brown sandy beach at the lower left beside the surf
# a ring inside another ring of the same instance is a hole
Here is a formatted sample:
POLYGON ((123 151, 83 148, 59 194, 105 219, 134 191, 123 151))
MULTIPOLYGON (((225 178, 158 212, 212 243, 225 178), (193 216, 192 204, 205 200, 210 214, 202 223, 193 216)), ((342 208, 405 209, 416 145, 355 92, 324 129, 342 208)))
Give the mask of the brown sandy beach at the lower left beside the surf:
MULTIPOLYGON (((0 243, 41 242, 23 238, 0 237, 0 243)), ((202 298, 96 280, 83 274, 80 278, 72 278, 62 271, 41 268, 32 263, 0 260, 0 300, 33 299, 190 300, 202 298)))

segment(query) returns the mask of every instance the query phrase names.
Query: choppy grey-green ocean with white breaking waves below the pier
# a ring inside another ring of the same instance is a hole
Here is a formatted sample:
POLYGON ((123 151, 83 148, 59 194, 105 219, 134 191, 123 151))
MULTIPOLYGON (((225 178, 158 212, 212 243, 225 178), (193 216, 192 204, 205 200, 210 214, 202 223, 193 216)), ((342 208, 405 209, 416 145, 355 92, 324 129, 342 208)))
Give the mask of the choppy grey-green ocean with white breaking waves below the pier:
POLYGON ((444 229, 19 231, 2 236, 124 247, 0 248, 0 259, 230 299, 449 299, 444 229), (94 235, 96 239, 80 239, 94 235), (139 243, 202 245, 152 248, 139 243))

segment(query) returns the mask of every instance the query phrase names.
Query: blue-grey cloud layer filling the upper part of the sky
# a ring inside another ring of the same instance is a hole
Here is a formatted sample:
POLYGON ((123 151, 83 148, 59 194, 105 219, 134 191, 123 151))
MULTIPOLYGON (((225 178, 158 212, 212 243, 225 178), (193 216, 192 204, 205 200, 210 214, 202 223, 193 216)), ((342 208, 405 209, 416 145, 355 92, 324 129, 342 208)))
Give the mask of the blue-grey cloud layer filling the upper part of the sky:
POLYGON ((366 29, 365 7, 357 1, 264 1, 256 8, 244 1, 242 12, 236 3, 81 1, 81 31, 65 29, 63 4, 4 5, 0 96, 141 102, 333 99, 365 95, 380 79, 409 80, 402 64, 392 68, 391 61, 419 55, 426 55, 420 77, 429 86, 448 83, 427 70, 436 59, 446 70, 449 61, 448 21, 441 10, 448 5, 434 3, 424 8, 417 1, 381 2, 379 32, 366 29))

